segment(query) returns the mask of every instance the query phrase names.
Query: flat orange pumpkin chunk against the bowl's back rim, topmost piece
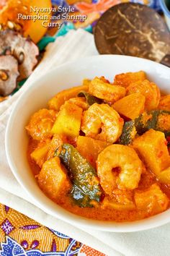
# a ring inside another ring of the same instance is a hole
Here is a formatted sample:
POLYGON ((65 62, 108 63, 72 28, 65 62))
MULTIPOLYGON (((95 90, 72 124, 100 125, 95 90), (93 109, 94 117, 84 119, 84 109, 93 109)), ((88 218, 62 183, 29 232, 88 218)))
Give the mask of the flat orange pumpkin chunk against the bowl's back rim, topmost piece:
POLYGON ((130 83, 137 82, 137 81, 143 81, 146 79, 146 73, 143 71, 139 72, 128 72, 128 73, 122 73, 117 74, 115 76, 114 85, 120 85, 122 87, 127 88, 130 83))

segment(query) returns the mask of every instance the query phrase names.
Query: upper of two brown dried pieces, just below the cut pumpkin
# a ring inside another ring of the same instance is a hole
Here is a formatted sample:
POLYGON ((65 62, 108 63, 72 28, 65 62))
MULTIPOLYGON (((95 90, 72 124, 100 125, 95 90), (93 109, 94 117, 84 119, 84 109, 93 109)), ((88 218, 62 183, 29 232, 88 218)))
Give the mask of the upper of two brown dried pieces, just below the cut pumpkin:
POLYGON ((4 30, 0 32, 0 55, 2 54, 11 54, 17 59, 19 80, 22 80, 32 73, 39 51, 32 40, 23 38, 13 30, 4 30))

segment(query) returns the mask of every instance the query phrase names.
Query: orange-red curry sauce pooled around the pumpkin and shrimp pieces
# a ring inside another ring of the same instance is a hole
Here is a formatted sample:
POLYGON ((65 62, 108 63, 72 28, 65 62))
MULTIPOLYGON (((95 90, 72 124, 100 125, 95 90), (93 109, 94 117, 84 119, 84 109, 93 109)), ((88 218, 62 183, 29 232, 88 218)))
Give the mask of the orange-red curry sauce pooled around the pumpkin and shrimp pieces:
MULTIPOLYGON (((40 167, 37 166, 35 161, 32 161, 30 154, 37 147, 37 141, 32 140, 30 138, 28 150, 27 150, 27 158, 30 163, 30 168, 32 169, 33 174, 36 175, 40 172, 40 167)), ((151 186, 151 184, 158 184, 161 187, 161 190, 166 193, 166 195, 170 199, 170 186, 165 184, 160 184, 156 181, 156 178, 150 171, 146 171, 141 175, 139 187, 140 189, 146 189, 151 186)), ((74 213, 78 216, 84 216, 86 218, 92 218, 100 221, 117 221, 117 222, 125 222, 125 221, 137 221, 143 218, 148 218, 153 216, 153 213, 147 213, 146 210, 114 210, 112 208, 102 208, 101 205, 97 206, 97 208, 80 208, 76 205, 69 195, 60 197, 55 202, 58 205, 61 205, 66 210, 74 213)), ((170 207, 170 205, 169 205, 170 207)))

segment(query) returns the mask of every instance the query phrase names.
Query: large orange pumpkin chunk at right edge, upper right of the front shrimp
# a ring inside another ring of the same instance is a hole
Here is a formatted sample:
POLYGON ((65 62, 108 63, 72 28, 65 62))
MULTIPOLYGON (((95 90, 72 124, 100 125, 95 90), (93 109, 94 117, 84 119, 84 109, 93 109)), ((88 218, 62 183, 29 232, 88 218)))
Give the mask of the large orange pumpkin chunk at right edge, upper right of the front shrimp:
POLYGON ((158 175, 169 167, 170 156, 163 132, 150 129, 133 141, 133 147, 153 174, 158 175))

